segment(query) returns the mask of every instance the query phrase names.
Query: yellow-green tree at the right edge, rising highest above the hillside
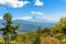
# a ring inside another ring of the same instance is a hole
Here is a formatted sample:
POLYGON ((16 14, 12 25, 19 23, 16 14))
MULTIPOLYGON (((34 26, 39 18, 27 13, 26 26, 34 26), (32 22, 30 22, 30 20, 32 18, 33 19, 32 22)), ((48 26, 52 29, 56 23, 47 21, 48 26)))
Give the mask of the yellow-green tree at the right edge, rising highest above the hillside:
POLYGON ((66 35, 66 18, 62 18, 57 25, 59 31, 66 35))

